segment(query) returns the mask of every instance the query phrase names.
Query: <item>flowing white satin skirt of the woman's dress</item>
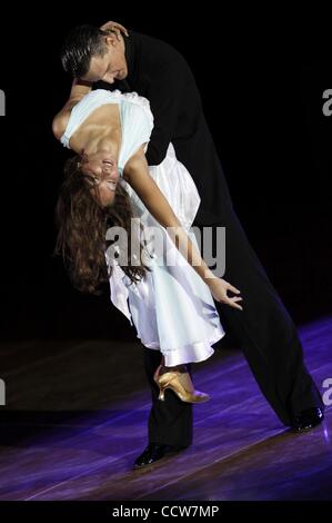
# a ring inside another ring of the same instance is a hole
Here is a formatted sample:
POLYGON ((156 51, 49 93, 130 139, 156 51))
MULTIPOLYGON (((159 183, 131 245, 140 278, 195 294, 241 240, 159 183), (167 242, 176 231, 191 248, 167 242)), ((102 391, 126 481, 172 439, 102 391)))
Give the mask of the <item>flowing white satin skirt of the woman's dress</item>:
MULTIPOLYGON (((200 205, 199 193, 172 144, 162 164, 149 167, 149 171, 199 248, 190 230, 200 205)), ((211 292, 129 184, 123 178, 121 181, 131 197, 134 217, 143 227, 158 229, 163 249, 155 248, 153 241, 148 244, 152 270, 138 284, 131 284, 121 267, 109 259, 113 267, 111 299, 134 325, 141 343, 162 353, 167 366, 208 359, 214 352, 212 345, 224 336, 211 292)))

